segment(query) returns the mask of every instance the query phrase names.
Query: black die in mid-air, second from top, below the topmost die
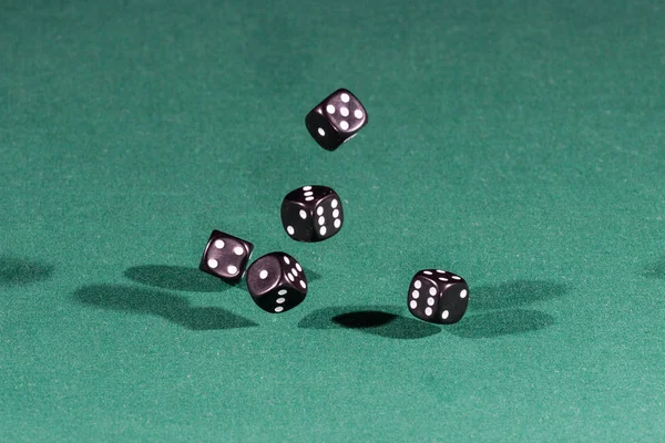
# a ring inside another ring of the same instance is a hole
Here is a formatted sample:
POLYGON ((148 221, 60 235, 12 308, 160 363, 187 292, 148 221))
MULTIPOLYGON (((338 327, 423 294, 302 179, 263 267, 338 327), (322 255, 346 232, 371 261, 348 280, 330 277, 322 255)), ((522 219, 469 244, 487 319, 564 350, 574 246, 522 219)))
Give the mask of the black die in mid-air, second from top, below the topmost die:
POLYGON ((321 241, 339 233, 344 224, 341 199, 327 186, 304 186, 282 202, 282 225, 298 241, 321 241))

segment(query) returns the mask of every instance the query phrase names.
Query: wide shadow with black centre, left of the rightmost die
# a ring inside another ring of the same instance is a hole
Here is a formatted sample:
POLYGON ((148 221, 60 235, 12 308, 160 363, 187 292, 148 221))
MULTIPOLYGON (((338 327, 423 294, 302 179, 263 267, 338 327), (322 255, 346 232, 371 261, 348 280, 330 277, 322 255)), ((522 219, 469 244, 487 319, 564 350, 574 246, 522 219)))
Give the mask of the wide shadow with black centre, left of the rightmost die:
POLYGON ((389 339, 413 340, 434 336, 441 328, 402 317, 397 306, 345 306, 315 310, 305 316, 298 328, 354 329, 389 339))

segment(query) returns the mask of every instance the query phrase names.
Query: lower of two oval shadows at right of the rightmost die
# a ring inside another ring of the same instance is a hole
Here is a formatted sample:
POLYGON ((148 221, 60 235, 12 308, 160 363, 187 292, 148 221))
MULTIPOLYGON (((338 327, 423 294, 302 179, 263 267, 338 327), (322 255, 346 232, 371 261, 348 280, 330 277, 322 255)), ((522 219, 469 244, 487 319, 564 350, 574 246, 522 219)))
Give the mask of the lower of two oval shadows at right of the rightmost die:
MULTIPOLYGON (((469 300, 471 301, 471 300, 469 300)), ((507 309, 481 315, 467 315, 446 331, 466 339, 487 339, 536 331, 554 324, 548 313, 529 309, 507 309)))

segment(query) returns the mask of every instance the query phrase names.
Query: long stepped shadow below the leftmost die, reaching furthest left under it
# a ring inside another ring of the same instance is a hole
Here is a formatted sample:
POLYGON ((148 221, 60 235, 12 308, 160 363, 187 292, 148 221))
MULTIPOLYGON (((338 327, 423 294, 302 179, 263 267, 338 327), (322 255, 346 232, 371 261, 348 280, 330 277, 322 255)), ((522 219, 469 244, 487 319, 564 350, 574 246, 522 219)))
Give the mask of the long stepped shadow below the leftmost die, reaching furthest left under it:
POLYGON ((193 331, 258 326, 222 308, 192 307, 184 297, 127 285, 83 286, 73 292, 73 299, 98 309, 158 316, 193 331))

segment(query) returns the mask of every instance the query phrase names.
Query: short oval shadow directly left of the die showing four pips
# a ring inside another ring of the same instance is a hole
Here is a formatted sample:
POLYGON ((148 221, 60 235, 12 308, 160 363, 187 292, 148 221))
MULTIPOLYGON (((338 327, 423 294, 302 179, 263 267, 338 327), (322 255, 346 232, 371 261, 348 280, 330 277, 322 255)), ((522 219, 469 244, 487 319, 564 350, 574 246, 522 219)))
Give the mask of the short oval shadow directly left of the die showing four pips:
POLYGON ((187 292, 221 292, 232 288, 198 268, 186 266, 141 265, 127 268, 123 275, 137 284, 187 292))

